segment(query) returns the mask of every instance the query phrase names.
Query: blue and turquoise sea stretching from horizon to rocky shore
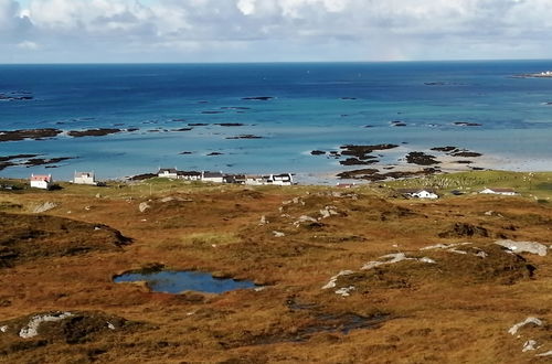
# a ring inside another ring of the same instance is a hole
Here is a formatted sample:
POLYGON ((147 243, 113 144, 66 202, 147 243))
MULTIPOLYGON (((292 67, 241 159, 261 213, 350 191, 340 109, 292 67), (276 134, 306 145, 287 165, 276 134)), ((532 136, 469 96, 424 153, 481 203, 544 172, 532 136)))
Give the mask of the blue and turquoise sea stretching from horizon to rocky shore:
POLYGON ((411 150, 456 146, 495 158, 497 169, 552 170, 552 78, 511 77, 548 69, 552 61, 0 65, 0 94, 33 97, 0 101, 0 130, 138 129, 0 142, 0 157, 74 158, 0 176, 70 180, 76 170, 110 179, 177 167, 308 181, 354 169, 310 154, 349 143, 400 144, 382 153, 390 164, 411 150), (244 99, 257 96, 273 98, 244 99), (217 125, 229 122, 241 126, 217 125), (189 124, 204 125, 174 131, 189 124), (243 135, 262 139, 226 139, 243 135))

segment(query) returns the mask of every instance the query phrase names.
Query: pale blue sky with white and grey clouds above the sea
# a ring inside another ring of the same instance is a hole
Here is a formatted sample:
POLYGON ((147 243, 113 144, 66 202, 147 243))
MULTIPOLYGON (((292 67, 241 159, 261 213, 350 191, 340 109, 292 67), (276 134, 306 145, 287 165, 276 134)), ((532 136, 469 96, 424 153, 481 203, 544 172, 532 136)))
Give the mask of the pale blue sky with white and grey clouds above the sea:
POLYGON ((552 0, 0 0, 0 63, 552 58, 552 0))

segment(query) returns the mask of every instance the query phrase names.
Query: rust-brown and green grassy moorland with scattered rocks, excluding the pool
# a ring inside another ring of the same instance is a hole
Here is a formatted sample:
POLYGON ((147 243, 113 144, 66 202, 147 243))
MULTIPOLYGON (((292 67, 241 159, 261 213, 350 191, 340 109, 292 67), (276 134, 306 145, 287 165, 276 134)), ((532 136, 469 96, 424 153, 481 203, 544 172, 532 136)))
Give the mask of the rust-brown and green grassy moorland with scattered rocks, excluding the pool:
POLYGON ((153 179, 1 191, 0 362, 550 362, 537 355, 552 350, 551 255, 495 244, 552 244, 550 178, 486 171, 350 190, 153 179), (427 202, 393 190, 404 186, 521 195, 427 202), (46 202, 51 210, 33 213, 46 202), (406 259, 385 264, 390 254, 406 259), (168 295, 113 282, 151 267, 262 287, 168 295), (56 312, 71 315, 20 336, 39 313, 56 312), (508 333, 528 317, 544 323, 508 333), (523 352, 529 340, 538 349, 523 352))

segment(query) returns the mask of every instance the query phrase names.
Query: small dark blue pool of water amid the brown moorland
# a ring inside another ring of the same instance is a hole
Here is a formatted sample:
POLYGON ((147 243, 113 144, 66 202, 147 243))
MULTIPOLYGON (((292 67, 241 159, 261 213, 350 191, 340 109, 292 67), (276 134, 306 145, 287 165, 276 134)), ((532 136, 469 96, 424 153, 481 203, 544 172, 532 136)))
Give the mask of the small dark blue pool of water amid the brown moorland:
POLYGON ((223 293, 236 289, 254 288, 248 280, 219 279, 201 271, 163 270, 148 274, 128 272, 114 278, 114 282, 146 281, 155 292, 181 293, 183 291, 200 291, 206 293, 223 293))

